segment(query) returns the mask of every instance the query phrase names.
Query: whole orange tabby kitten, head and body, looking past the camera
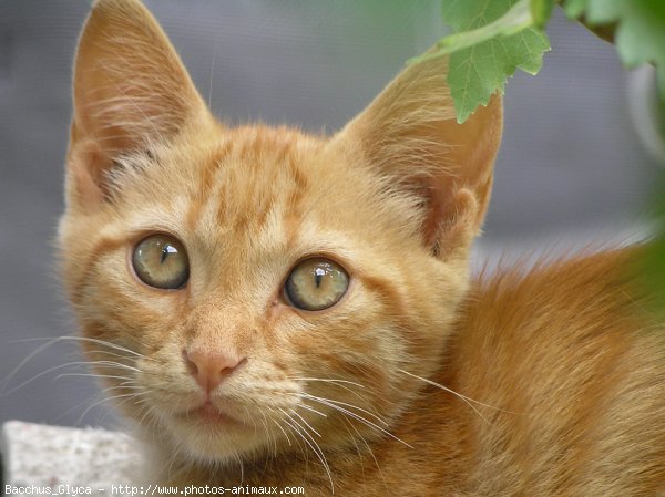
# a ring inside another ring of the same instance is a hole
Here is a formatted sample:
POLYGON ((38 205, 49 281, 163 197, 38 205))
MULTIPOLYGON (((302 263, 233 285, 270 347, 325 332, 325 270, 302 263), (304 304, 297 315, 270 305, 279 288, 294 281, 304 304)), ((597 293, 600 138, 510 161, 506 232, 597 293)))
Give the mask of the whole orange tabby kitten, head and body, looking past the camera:
POLYGON ((444 73, 408 68, 331 137, 232 128, 136 0, 95 4, 60 239, 145 483, 663 495, 663 328, 631 250, 470 281, 501 99, 459 125, 444 73))

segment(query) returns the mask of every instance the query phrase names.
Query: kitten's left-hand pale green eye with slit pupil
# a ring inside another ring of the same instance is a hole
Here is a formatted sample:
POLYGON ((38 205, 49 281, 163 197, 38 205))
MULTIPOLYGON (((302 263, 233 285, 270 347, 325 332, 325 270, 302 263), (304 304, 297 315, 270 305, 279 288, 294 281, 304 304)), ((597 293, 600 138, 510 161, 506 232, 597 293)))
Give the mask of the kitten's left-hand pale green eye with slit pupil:
POLYGON ((162 289, 182 288, 190 278, 185 247, 168 235, 151 235, 134 247, 132 265, 145 284, 162 289))

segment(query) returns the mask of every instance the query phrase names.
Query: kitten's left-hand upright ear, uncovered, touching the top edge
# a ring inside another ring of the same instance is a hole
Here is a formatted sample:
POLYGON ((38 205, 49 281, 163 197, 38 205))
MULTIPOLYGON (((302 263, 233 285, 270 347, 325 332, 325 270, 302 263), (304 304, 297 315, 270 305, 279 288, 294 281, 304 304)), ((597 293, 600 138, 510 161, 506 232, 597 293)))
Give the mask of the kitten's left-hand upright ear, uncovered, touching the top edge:
POLYGON ((117 158, 167 142, 207 114, 177 53, 137 0, 100 0, 79 40, 68 198, 94 209, 117 158))

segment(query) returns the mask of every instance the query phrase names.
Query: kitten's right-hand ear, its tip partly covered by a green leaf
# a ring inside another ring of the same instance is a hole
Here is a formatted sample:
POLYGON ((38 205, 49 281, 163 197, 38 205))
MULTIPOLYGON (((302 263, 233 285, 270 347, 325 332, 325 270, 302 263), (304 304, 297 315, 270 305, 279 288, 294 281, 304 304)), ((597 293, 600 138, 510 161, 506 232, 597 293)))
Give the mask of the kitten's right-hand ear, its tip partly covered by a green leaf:
POLYGON ((423 210, 423 244, 442 259, 466 257, 488 208, 503 123, 495 94, 463 123, 446 82, 448 60, 407 68, 334 138, 423 210))

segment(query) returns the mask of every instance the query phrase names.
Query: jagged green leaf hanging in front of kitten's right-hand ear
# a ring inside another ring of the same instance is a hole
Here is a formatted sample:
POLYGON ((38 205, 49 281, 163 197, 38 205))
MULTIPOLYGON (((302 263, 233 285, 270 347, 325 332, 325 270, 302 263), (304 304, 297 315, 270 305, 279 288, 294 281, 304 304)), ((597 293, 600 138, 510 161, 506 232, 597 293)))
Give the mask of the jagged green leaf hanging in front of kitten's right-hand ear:
POLYGON ((493 93, 503 93, 507 77, 516 69, 538 73, 550 43, 544 32, 526 28, 534 22, 529 0, 443 0, 442 7, 443 20, 458 33, 492 24, 512 11, 504 29, 499 30, 500 35, 452 51, 450 55, 448 84, 458 122, 463 123, 479 104, 487 105, 493 93), (522 23, 515 34, 503 35, 514 32, 519 24, 514 14, 524 11, 530 23, 522 23))

